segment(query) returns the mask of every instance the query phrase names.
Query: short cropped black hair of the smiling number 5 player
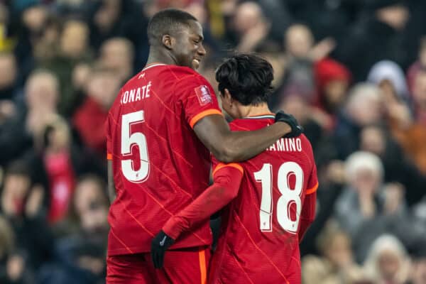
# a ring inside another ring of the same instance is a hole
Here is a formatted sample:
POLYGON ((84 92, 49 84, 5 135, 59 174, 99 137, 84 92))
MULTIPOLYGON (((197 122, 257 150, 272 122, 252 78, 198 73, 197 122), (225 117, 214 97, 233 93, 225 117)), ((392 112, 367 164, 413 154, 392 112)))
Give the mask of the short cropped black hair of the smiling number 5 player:
POLYGON ((180 30, 182 26, 189 26, 190 21, 197 21, 197 18, 178 9, 165 9, 155 13, 147 28, 149 44, 160 43, 163 35, 172 34, 180 30))

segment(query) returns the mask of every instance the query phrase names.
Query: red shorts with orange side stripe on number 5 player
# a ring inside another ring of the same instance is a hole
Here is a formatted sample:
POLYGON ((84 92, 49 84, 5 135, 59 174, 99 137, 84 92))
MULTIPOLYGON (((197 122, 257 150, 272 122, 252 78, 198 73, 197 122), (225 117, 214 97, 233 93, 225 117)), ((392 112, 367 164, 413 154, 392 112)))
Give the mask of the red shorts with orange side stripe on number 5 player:
POLYGON ((205 284, 209 260, 209 247, 166 251, 161 269, 151 253, 108 256, 107 284, 205 284))

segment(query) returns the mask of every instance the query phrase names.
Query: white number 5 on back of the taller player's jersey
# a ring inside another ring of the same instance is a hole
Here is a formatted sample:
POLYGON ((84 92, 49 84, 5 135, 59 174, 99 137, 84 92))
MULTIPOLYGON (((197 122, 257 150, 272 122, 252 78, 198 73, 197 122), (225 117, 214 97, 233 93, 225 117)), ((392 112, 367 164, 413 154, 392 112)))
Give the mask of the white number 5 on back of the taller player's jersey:
POLYGON ((132 146, 138 146, 141 167, 136 170, 131 158, 121 160, 121 171, 124 177, 131 182, 143 182, 148 178, 149 159, 146 137, 141 132, 130 133, 132 124, 140 124, 145 121, 143 111, 135 111, 124 114, 121 117, 121 154, 131 155, 132 146))

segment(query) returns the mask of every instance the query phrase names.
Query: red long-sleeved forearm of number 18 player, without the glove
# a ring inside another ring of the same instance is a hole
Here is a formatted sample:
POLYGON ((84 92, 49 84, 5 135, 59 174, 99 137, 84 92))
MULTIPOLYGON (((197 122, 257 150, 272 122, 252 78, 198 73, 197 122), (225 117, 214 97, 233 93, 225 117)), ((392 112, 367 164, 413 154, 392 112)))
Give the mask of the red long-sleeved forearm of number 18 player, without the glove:
POLYGON ((173 239, 178 239, 182 232, 190 231, 194 226, 206 221, 212 214, 231 202, 238 194, 242 175, 235 169, 230 169, 229 173, 229 176, 215 178, 213 185, 207 187, 207 190, 185 209, 171 217, 163 226, 165 234, 173 239), (236 178, 232 178, 233 175, 236 178))

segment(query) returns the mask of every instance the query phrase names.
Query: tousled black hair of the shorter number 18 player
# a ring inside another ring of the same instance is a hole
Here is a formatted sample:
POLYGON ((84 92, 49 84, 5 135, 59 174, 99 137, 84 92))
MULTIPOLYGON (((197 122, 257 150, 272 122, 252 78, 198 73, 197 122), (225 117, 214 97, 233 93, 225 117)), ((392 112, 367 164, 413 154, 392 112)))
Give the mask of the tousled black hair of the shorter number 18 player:
POLYGON ((253 54, 239 54, 226 59, 216 70, 219 91, 228 89, 231 97, 244 106, 268 102, 273 91, 271 63, 253 54))

